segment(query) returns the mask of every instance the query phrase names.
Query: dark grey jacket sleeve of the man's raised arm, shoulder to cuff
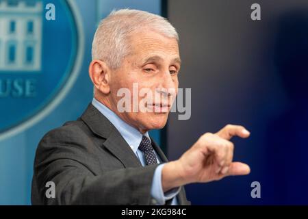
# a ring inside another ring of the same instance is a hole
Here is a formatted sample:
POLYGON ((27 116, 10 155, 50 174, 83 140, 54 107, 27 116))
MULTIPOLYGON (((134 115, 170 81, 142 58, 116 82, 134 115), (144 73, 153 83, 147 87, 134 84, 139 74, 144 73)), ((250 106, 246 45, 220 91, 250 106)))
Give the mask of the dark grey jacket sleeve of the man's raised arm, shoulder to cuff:
POLYGON ((32 193, 38 192, 42 204, 151 205, 157 165, 120 168, 97 175, 88 166, 95 158, 85 151, 85 146, 73 140, 55 140, 59 137, 58 133, 47 133, 36 151, 36 188, 32 188, 32 193), (48 181, 55 184, 55 198, 46 196, 48 181))

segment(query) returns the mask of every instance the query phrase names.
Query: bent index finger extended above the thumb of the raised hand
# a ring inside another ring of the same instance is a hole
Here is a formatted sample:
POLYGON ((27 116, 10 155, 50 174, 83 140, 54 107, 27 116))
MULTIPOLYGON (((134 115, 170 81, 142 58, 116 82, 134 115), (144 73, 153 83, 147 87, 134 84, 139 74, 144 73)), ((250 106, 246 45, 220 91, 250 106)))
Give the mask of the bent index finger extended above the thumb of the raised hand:
POLYGON ((226 125, 220 131, 216 133, 220 138, 230 140, 233 136, 239 136, 241 138, 248 138, 250 132, 247 131, 242 125, 226 125))

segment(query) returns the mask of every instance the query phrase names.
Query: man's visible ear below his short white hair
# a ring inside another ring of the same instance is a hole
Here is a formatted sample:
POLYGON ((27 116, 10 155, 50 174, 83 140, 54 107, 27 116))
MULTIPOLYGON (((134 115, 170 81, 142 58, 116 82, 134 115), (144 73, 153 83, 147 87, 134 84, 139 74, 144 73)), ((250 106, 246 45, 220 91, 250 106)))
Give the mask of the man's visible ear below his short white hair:
POLYGON ((110 93, 110 68, 101 60, 92 60, 89 66, 89 75, 97 90, 103 94, 110 93))

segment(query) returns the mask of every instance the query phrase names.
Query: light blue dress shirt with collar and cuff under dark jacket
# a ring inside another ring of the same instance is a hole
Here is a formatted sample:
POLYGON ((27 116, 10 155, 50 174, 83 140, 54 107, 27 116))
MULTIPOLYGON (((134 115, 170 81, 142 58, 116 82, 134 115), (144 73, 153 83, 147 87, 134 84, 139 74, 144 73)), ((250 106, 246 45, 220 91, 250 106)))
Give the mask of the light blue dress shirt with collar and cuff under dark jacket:
MULTIPOLYGON (((139 144, 142 140, 142 133, 135 129, 134 127, 131 127, 125 121, 123 121, 118 115, 116 115, 112 110, 110 110, 108 107, 97 101, 97 99, 93 98, 92 100, 92 105, 101 112, 108 120, 110 120, 110 123, 118 129, 120 132, 121 136, 125 139, 127 144, 131 147, 131 150, 133 150, 133 153, 136 154, 138 159, 140 160, 142 166, 146 165, 145 162, 145 157, 142 151, 138 149, 139 144)), ((146 132, 144 133, 144 136, 148 137, 149 140, 150 136, 149 133, 146 132)), ((155 152, 157 156, 157 163, 161 163, 161 160, 159 159, 157 153, 155 152)), ((171 190, 170 192, 165 192, 162 189, 162 168, 164 167, 164 164, 159 164, 157 166, 154 176, 153 176, 153 181, 152 181, 152 187, 151 187, 151 196, 155 198, 157 205, 164 205, 166 201, 170 200, 172 198, 172 203, 171 205, 177 205, 177 194, 179 193, 179 188, 175 190, 171 190)))

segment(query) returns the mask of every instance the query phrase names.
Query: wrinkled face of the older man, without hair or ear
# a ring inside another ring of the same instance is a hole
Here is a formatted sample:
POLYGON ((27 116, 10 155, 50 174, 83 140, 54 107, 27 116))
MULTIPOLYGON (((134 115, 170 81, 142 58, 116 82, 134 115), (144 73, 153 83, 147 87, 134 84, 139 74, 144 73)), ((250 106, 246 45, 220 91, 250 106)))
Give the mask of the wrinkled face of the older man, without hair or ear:
POLYGON ((153 31, 142 31, 131 37, 130 47, 131 53, 111 75, 112 110, 142 133, 150 129, 162 129, 179 86, 181 63, 177 40, 153 31), (123 99, 123 96, 117 96, 120 88, 130 91, 129 112, 118 112, 118 101, 123 99), (136 107, 133 98, 138 99, 138 112, 133 112, 133 105, 136 107))

